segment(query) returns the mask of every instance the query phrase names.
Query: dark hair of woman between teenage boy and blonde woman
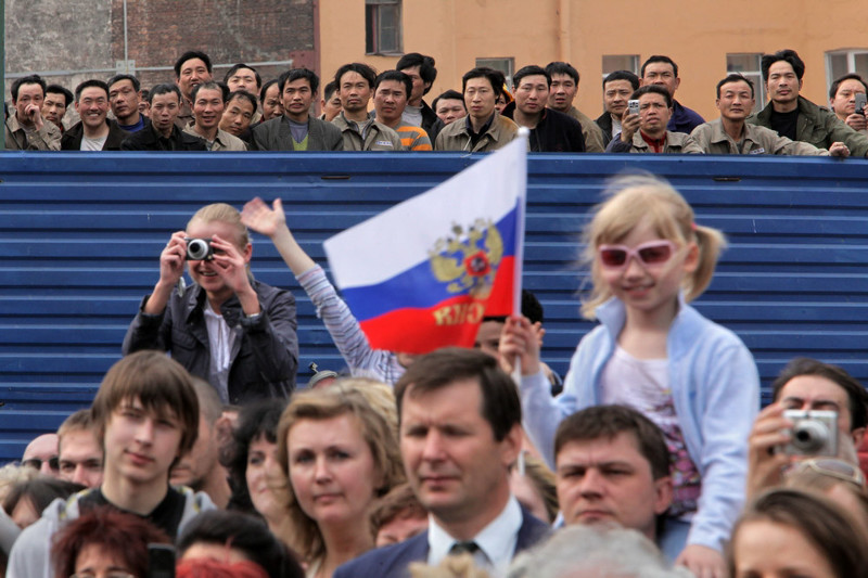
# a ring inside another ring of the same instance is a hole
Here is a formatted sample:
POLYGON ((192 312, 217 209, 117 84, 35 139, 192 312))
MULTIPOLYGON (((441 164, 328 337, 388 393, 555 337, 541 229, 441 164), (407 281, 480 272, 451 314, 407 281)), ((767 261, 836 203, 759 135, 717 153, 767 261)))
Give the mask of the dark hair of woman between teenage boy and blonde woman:
POLYGON ((247 455, 251 444, 259 438, 271 444, 278 442, 278 422, 285 407, 286 402, 281 399, 268 399, 241 409, 232 439, 220 452, 220 463, 229 473, 229 486, 232 488, 228 510, 256 513, 247 488, 247 455))

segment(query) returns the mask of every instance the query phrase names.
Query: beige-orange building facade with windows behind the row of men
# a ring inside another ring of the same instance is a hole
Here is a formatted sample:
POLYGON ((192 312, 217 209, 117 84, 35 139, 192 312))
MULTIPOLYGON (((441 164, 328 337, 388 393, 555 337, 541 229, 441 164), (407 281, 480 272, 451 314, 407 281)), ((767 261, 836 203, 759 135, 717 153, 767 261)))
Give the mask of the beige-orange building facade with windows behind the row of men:
MULTIPOLYGON (((715 85, 728 70, 760 79, 760 56, 790 48, 805 62, 802 94, 828 103, 831 80, 848 72, 868 78, 868 15, 842 0, 319 0, 320 73, 324 81, 347 62, 393 68, 405 52, 434 56, 437 80, 429 103, 461 89, 477 64, 515 72, 553 60, 580 73, 576 104, 602 112, 601 79, 639 72, 652 54, 679 66, 676 98, 716 118, 715 85)), ((758 88, 758 87, 757 87, 758 88)), ((757 100, 765 92, 757 93, 757 100)))

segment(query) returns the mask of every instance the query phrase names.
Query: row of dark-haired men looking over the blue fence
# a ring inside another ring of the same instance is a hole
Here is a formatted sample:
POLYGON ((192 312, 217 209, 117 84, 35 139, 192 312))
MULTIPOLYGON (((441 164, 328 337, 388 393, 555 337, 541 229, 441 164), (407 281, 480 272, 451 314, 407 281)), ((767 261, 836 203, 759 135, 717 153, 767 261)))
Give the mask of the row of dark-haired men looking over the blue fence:
POLYGON ((446 90, 431 105, 433 57, 408 53, 380 74, 349 63, 322 87, 319 116, 320 78, 311 70, 266 82, 243 63, 222 82, 213 72, 207 54, 189 51, 175 64, 174 82, 148 89, 128 74, 86 80, 75 92, 36 75, 18 78, 7 149, 487 152, 526 127, 533 152, 868 155, 868 84, 844 75, 831 85, 829 107, 815 104, 800 94, 805 65, 793 50, 762 59, 765 107, 754 113, 753 81, 729 74, 716 87, 720 116, 707 123, 675 99, 681 78, 665 55, 649 57, 638 76, 608 75, 596 120, 574 106, 579 73, 565 62, 524 66, 511 87, 502 73, 476 67, 460 92, 446 90), (80 120, 66 127, 71 105, 80 120))

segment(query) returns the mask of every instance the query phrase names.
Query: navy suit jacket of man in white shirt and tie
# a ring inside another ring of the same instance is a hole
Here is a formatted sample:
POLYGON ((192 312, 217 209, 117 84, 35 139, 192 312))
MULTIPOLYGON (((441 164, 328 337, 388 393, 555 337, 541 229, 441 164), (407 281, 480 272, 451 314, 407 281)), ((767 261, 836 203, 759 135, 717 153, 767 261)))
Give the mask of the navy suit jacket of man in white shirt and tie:
MULTIPOLYGON (((551 535, 551 527, 522 508, 522 527, 513 556, 551 535)), ((378 548, 340 566, 333 578, 409 578, 411 562, 427 561, 427 531, 405 542, 378 548)))

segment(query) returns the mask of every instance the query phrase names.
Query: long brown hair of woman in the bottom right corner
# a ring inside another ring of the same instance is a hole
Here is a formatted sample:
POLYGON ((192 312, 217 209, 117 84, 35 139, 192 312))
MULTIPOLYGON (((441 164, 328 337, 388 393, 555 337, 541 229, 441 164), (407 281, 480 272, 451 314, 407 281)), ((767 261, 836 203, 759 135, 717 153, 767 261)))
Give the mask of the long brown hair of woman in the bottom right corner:
MULTIPOLYGON (((760 494, 732 529, 728 552, 730 576, 736 570, 738 534, 751 522, 771 522, 797 530, 834 571, 838 578, 868 576, 868 536, 860 525, 832 501, 794 489, 775 489, 760 494)), ((754 543, 754 548, 763 548, 754 543)))

